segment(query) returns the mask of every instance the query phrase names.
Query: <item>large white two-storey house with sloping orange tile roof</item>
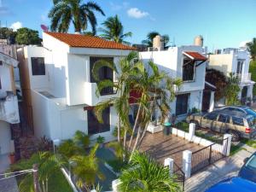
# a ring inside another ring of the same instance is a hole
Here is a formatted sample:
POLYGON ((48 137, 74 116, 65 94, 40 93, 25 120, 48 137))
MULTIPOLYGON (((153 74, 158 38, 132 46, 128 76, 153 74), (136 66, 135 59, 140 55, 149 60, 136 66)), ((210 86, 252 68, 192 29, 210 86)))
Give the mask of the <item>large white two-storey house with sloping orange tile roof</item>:
MULTIPOLYGON (((57 32, 44 32, 43 45, 18 49, 23 107, 35 135, 62 140, 79 130, 92 139, 101 135, 106 142, 113 140, 115 109, 109 107, 103 112, 103 125, 92 109, 119 93, 105 89, 96 96, 91 69, 102 59, 118 63, 134 48, 102 38, 57 32)), ((108 67, 99 74, 100 79, 113 81, 116 75, 108 67)))

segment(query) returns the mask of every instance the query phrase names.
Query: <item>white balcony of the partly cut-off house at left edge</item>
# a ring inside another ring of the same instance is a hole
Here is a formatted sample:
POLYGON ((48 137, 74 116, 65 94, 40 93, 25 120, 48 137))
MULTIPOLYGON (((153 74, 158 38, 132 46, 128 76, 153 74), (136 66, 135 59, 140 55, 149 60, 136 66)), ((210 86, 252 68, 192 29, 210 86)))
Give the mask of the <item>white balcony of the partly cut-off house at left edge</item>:
POLYGON ((0 120, 10 124, 20 123, 17 96, 6 96, 0 98, 0 120))

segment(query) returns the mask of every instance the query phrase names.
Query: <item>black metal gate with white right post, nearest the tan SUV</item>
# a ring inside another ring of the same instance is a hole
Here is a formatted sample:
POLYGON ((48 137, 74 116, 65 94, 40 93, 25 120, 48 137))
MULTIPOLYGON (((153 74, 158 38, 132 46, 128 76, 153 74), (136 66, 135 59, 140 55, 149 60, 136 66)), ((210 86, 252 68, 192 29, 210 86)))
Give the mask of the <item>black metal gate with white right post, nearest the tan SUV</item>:
POLYGON ((205 148, 193 152, 191 156, 191 175, 224 158, 227 154, 227 147, 228 138, 225 138, 222 140, 222 144, 212 143, 205 148))

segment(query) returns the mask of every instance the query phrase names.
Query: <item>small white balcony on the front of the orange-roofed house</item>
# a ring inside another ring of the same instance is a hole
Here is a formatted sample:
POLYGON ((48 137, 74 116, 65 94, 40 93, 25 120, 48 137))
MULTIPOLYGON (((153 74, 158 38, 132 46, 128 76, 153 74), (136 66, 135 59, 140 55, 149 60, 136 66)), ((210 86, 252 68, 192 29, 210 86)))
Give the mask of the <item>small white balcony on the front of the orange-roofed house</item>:
POLYGON ((105 88, 101 91, 100 96, 96 95, 97 84, 85 82, 84 90, 86 91, 85 103, 90 106, 96 106, 99 102, 103 102, 112 98, 113 96, 118 96, 118 93, 113 88, 105 88), (88 94, 90 93, 90 94, 88 94))

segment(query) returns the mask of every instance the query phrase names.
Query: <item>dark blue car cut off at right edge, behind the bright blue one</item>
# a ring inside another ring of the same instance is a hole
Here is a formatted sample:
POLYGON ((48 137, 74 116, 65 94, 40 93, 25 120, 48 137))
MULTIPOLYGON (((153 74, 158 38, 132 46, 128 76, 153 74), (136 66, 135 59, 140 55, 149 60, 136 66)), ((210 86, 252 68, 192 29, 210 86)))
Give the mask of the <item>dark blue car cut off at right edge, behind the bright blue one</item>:
POLYGON ((238 176, 256 183, 256 152, 246 158, 244 162, 238 176))

